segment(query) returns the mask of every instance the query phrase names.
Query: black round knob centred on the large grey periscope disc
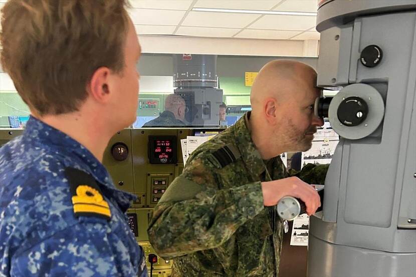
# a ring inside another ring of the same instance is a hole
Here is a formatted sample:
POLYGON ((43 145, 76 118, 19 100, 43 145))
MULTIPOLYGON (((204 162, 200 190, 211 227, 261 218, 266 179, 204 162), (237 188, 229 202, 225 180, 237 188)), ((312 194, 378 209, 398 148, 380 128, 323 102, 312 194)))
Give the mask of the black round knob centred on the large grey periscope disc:
POLYGON ((368 114, 367 103, 360 97, 351 96, 342 100, 338 106, 339 121, 346 126, 361 124, 368 114))

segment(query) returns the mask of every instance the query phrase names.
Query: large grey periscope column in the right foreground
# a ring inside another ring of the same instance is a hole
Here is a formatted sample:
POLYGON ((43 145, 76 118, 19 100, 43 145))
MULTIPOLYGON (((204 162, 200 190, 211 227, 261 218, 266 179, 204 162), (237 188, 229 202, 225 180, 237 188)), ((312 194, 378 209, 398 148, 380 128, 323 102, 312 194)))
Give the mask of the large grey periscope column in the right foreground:
POLYGON ((341 136, 308 276, 416 276, 416 1, 320 3, 318 86, 341 136))

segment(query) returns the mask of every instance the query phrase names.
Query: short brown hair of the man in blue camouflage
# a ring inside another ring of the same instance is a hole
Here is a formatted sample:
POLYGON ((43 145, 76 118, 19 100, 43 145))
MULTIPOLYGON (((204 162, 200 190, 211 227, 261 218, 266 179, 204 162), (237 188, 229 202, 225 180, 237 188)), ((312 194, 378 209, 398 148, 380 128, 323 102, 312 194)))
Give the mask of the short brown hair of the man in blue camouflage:
POLYGON ((2 9, 0 61, 39 114, 76 111, 99 67, 121 73, 126 0, 9 0, 2 9))

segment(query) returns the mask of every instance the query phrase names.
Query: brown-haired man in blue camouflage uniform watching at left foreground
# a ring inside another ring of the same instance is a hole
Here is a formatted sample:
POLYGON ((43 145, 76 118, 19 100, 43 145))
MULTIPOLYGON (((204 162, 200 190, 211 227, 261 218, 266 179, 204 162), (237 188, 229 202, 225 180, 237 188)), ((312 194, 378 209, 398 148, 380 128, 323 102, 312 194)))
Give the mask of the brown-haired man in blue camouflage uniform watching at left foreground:
POLYGON ((135 196, 101 163, 136 117, 140 45, 125 3, 2 11, 2 65, 32 116, 0 148, 0 276, 147 276, 126 218, 135 196))

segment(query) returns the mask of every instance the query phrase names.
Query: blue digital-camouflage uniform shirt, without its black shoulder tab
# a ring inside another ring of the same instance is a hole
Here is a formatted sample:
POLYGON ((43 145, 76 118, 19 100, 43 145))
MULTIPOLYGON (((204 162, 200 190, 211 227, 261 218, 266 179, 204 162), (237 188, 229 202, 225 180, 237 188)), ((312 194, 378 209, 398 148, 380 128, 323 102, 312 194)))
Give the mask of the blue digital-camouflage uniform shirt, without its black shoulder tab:
POLYGON ((0 148, 0 276, 147 276, 126 220, 134 198, 80 143, 30 118, 24 134, 0 148), (97 181, 109 220, 74 216, 66 167, 97 181))

